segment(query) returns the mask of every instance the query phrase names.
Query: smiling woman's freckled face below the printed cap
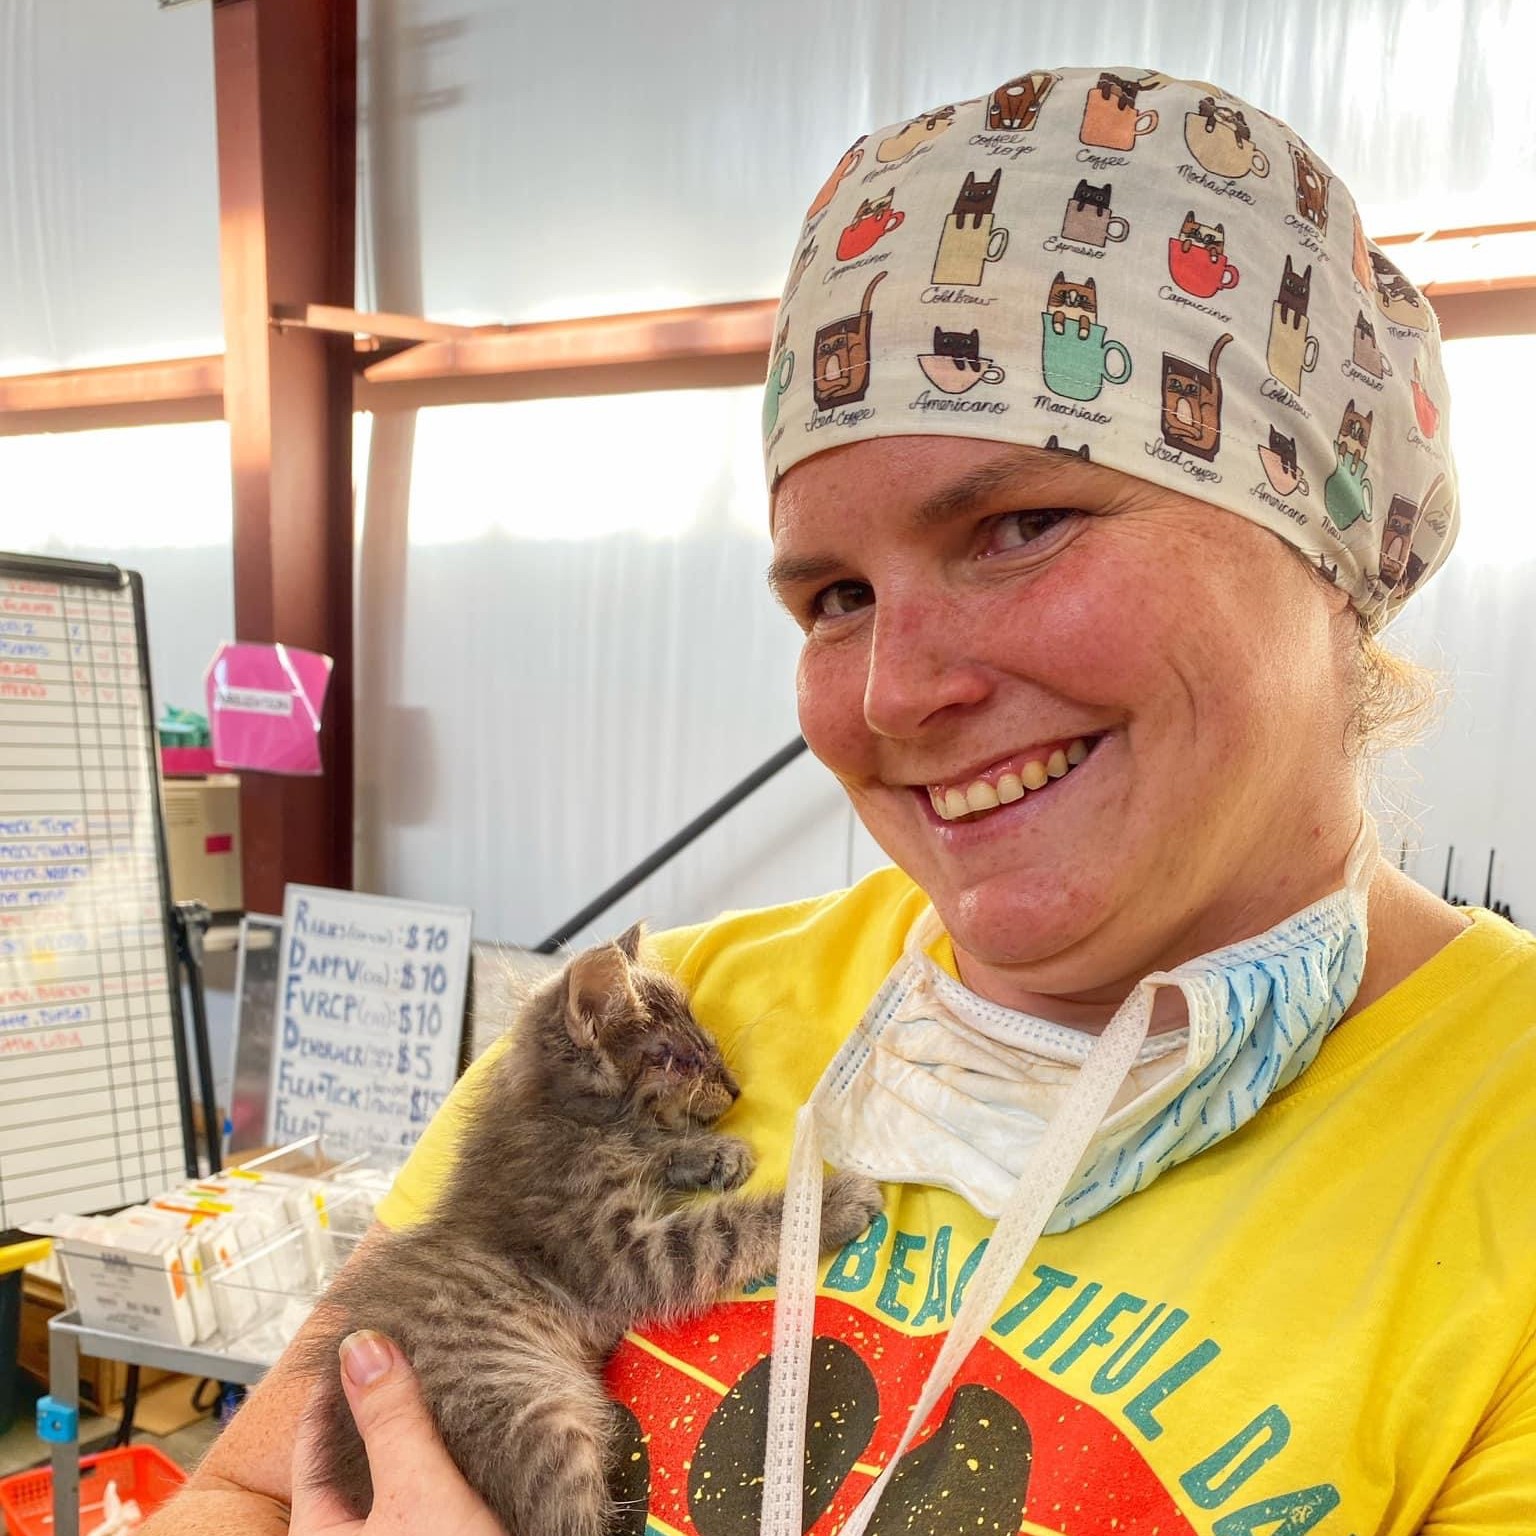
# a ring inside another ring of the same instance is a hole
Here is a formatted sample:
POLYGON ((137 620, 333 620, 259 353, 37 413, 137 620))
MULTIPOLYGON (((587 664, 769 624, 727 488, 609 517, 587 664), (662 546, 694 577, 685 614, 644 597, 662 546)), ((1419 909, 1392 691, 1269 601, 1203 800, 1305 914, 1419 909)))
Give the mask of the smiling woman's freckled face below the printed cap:
POLYGON ((1267 530, 1068 453, 883 438, 783 478, 773 581, 805 737, 977 991, 1086 1020, 1342 882, 1355 621, 1267 530))

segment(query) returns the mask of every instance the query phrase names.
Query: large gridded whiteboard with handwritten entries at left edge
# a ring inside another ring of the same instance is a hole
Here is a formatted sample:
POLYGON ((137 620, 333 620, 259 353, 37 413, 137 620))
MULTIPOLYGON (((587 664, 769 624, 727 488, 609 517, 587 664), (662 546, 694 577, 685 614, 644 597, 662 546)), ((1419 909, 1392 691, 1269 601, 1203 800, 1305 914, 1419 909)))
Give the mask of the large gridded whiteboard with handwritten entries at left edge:
POLYGON ((0 1229, 186 1174, 143 641, 132 573, 0 556, 0 1229))

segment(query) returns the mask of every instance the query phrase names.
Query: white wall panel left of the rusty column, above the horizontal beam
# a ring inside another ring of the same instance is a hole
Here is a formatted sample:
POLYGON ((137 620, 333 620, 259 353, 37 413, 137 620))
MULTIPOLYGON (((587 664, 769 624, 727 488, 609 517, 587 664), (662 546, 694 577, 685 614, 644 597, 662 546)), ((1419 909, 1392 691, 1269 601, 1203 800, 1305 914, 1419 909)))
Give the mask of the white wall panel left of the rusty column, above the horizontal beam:
POLYGON ((210 8, 0 0, 0 373, 223 347, 210 8))

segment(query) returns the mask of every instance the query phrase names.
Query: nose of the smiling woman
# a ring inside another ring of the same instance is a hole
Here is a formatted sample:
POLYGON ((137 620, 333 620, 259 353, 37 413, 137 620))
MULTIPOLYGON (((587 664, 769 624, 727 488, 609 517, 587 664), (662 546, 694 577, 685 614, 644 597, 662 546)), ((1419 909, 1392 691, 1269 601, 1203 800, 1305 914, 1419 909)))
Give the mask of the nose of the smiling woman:
POLYGON ((946 604, 888 599, 877 607, 865 677, 865 723, 877 736, 917 736, 946 710, 986 697, 986 668, 958 621, 946 604))

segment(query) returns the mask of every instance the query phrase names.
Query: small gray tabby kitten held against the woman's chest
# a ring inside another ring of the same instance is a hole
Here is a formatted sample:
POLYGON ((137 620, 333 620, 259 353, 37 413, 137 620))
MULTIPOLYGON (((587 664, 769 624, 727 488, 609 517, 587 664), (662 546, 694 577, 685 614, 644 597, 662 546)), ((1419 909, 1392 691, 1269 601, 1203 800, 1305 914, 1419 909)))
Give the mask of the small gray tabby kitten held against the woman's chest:
MULTIPOLYGON (((771 1273, 783 1197, 733 1190, 746 1143, 713 1124, 740 1089, 641 929, 576 955, 528 1000, 465 1123, 438 1213, 338 1276, 307 1367, 324 1376, 318 1479, 359 1518, 373 1488, 336 1346, 404 1350, 459 1470, 515 1536, 602 1536, 613 1404, 602 1367, 642 1319, 702 1312, 771 1273)), ((868 1227, 880 1190, 829 1175, 822 1240, 868 1227)))

